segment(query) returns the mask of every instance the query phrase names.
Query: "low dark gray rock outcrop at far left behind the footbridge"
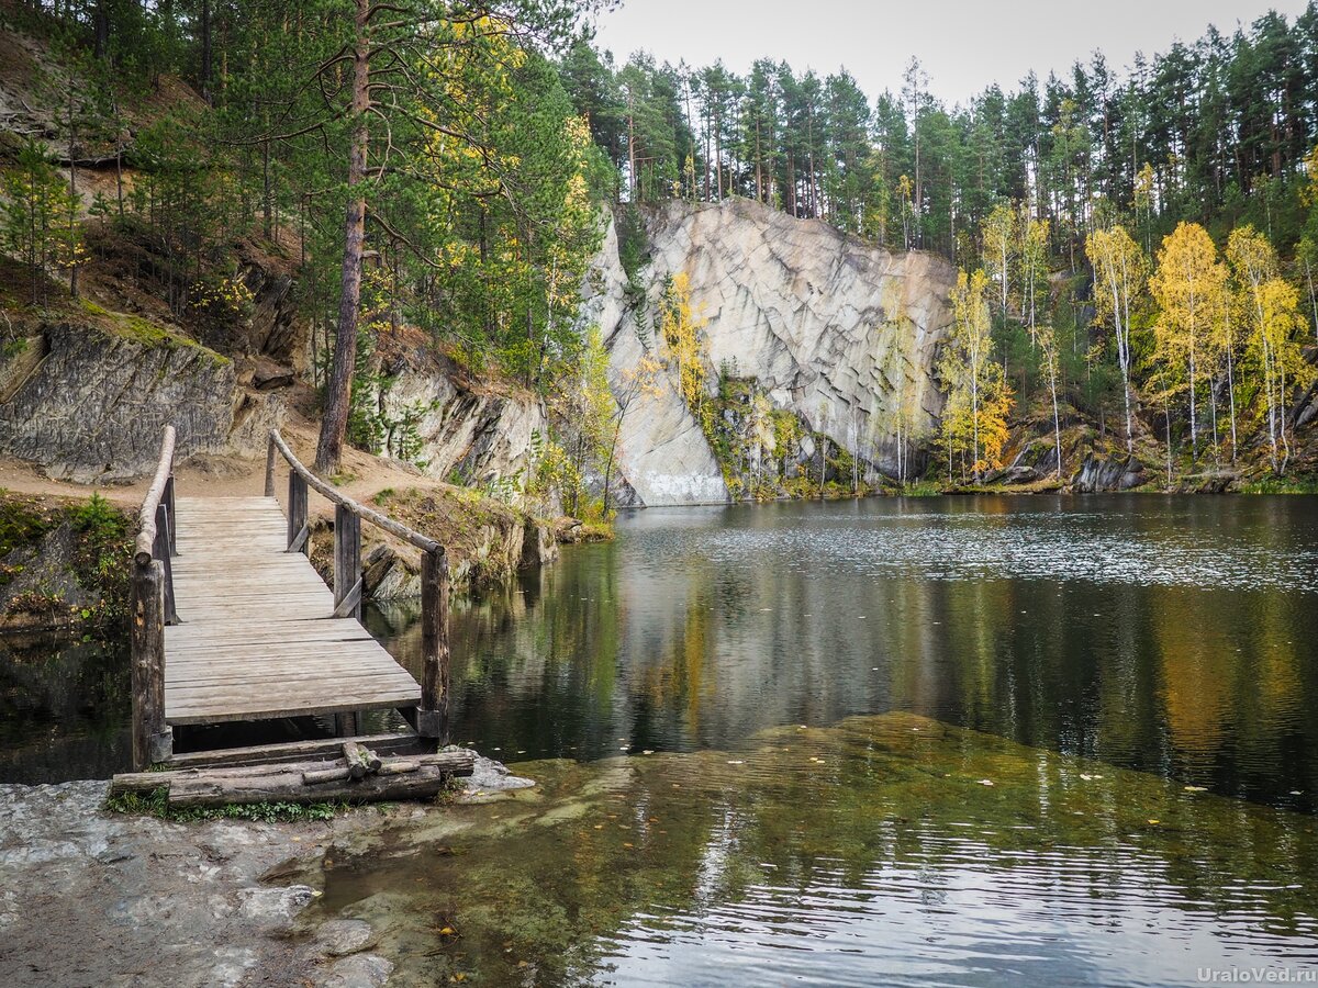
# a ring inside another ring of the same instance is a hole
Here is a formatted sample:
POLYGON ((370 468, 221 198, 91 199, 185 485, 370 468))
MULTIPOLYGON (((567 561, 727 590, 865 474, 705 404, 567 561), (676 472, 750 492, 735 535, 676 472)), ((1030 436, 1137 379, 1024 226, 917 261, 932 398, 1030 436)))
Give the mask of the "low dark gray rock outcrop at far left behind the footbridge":
POLYGON ((51 325, 0 374, 0 453, 55 480, 113 483, 156 469, 161 433, 177 458, 252 454, 282 418, 270 395, 237 386, 232 361, 177 340, 137 340, 86 325, 51 325))

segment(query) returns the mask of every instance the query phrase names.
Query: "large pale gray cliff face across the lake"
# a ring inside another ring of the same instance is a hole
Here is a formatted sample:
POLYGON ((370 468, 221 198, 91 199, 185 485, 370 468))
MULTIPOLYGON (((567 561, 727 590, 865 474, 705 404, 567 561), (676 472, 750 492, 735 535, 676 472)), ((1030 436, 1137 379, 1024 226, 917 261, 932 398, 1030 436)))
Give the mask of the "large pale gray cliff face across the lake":
MULTIPOLYGON (((604 332, 616 395, 647 344, 662 357, 655 314, 667 281, 685 273, 692 308, 708 320, 710 387, 721 371, 754 379, 775 408, 870 472, 895 473, 899 411, 908 435, 932 432, 942 410, 934 354, 952 323, 949 263, 745 200, 668 203, 647 213, 646 233, 643 302, 629 299, 612 229, 588 279, 583 317, 604 332)), ((722 470, 672 381, 637 407, 618 456, 641 499, 725 501, 722 470)))

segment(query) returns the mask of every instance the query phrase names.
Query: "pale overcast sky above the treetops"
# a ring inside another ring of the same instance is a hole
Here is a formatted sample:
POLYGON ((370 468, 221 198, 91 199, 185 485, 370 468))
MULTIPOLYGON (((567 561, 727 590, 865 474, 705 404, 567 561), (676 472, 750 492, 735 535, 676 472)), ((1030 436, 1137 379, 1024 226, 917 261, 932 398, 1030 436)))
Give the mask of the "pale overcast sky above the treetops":
POLYGON ((1004 90, 1033 69, 1068 71, 1099 49, 1124 70, 1136 51, 1191 42, 1215 24, 1224 34, 1269 9, 1294 17, 1307 0, 623 0, 600 16, 597 41, 618 62, 646 49, 659 62, 722 58, 738 74, 767 57, 820 75, 845 66, 871 97, 900 92, 915 55, 931 91, 965 104, 996 82, 1004 90))

